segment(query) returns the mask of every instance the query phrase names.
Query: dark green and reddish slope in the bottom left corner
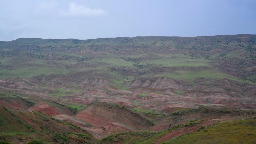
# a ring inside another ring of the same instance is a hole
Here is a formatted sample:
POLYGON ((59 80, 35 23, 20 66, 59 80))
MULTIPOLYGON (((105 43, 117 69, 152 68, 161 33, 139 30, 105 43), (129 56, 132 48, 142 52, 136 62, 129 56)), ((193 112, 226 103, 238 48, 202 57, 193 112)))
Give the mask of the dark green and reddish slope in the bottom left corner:
POLYGON ((20 111, 5 109, 0 106, 0 115, 0 142, 13 142, 19 137, 27 137, 27 141, 39 140, 42 143, 81 141, 79 139, 83 139, 84 142, 96 141, 90 134, 79 127, 53 119, 40 112, 21 113, 20 111), (20 116, 25 116, 26 119, 32 120, 33 125, 39 125, 41 130, 36 130, 32 125, 22 120, 20 116), (60 129, 55 129, 58 126, 64 128, 63 133, 61 133, 60 129))

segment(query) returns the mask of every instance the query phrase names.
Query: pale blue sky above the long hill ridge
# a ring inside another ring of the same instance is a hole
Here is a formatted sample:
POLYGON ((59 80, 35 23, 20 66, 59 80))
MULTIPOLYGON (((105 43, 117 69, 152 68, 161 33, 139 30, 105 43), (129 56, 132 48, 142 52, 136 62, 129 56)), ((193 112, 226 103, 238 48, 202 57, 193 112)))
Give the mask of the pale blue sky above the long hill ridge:
POLYGON ((0 41, 256 34, 256 0, 1 0, 0 41))

